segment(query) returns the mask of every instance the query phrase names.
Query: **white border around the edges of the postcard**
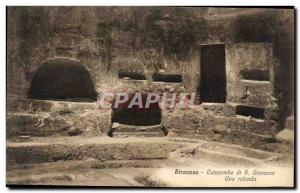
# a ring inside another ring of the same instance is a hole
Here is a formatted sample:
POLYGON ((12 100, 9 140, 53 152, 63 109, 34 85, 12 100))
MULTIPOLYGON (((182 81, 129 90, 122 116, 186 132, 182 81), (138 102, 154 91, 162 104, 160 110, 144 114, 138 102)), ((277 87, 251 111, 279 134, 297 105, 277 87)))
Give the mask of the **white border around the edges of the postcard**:
MULTIPOLYGON (((1 70, 0 70, 0 97, 1 97, 1 108, 0 108, 0 128, 1 128, 1 145, 2 147, 0 148, 0 171, 1 171, 1 176, 0 176, 0 189, 1 192, 8 192, 12 191, 9 190, 8 188, 5 187, 5 155, 6 155, 6 136, 5 136, 5 123, 6 123, 6 118, 5 118, 5 92, 6 92, 6 6, 34 6, 34 5, 43 5, 43 6, 55 6, 55 5, 64 5, 64 6, 96 6, 96 5, 102 5, 102 6, 109 6, 109 5, 115 5, 115 6, 121 6, 121 5, 135 5, 135 6, 153 6, 153 5, 161 5, 161 6, 167 6, 167 5, 185 5, 185 6, 286 6, 286 5, 291 5, 295 6, 296 8, 299 7, 299 0, 289 0, 289 1, 274 1, 274 0, 251 0, 251 1, 239 1, 239 0, 231 0, 231 1, 225 1, 225 0, 202 0, 202 1, 197 1, 197 0, 189 0, 189 1, 182 1, 182 0, 173 0, 173 1, 164 1, 162 0, 144 0, 144 1, 137 1, 137 0, 109 0, 109 1, 97 1, 97 0, 51 0, 51 1, 41 1, 41 0, 30 0, 30 1, 22 1, 22 0, 4 0, 0 1, 0 19, 1 19, 1 27, 0 27, 0 37, 1 37, 1 44, 0 44, 0 61, 1 61, 1 70)), ((297 26, 299 26, 299 20, 297 19, 297 26)), ((299 38, 297 38, 297 45, 298 45, 299 38)), ((297 49, 297 57, 299 58, 299 49, 297 49)), ((297 64, 296 64, 297 65, 297 64)), ((299 74, 299 68, 297 69, 297 74, 299 74)), ((297 81, 297 91, 299 91, 299 82, 297 81)), ((298 94, 298 92, 297 92, 298 94)), ((298 106, 297 106, 298 107, 298 106)), ((298 114, 299 116, 299 114, 298 114)), ((297 120, 299 120, 297 116, 297 120)), ((298 131, 299 132, 299 131, 298 131)), ((297 132, 297 133, 298 133, 297 132)), ((298 138, 297 138, 298 139, 298 138)), ((299 147, 297 148, 297 150, 299 147)), ((299 160, 299 159, 298 159, 299 160)), ((299 167, 299 163, 297 165, 299 167)), ((297 168, 298 168, 297 167, 297 168)), ((298 178, 299 179, 299 176, 298 178)), ((296 183, 299 185, 299 181, 296 183)), ((13 190, 16 191, 16 190, 13 190)), ((28 190, 18 190, 18 192, 27 192, 28 190)), ((32 191, 43 191, 43 192, 52 192, 51 188, 49 189, 44 189, 44 190, 37 190, 34 189, 32 191)), ((57 192, 64 192, 64 191, 80 191, 80 192, 87 192, 91 191, 89 189, 85 190, 57 190, 57 192)), ((95 190, 94 190, 95 191, 95 190)), ((107 189, 105 190, 96 190, 96 191, 108 191, 107 189)), ((109 190, 109 191, 118 191, 118 190, 109 190)), ((132 192, 135 190, 129 189, 126 190, 128 192, 132 192)), ((144 190, 138 190, 142 192, 148 191, 147 189, 144 190)), ((159 192, 164 192, 166 190, 158 190, 159 192)), ((180 190, 182 192, 185 192, 186 190, 180 190)), ((204 190, 197 190, 197 191, 204 191, 204 190)), ((215 190, 216 191, 216 190, 215 190)), ((209 192, 215 192, 215 191, 209 191, 209 192)), ((232 190, 228 190, 232 191, 232 190)), ((251 190, 247 190, 251 191, 251 190)), ((259 190, 255 190, 259 191, 259 190)))

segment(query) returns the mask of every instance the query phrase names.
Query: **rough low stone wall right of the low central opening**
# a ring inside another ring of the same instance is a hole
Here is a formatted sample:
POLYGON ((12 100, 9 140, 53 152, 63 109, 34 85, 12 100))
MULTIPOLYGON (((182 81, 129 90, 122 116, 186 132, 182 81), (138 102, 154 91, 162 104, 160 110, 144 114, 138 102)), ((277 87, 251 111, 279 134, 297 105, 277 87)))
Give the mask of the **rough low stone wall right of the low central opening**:
POLYGON ((256 146, 273 140, 276 131, 272 120, 236 116, 231 114, 232 106, 224 105, 223 110, 203 107, 163 111, 162 125, 168 136, 204 138, 244 146, 256 146))

